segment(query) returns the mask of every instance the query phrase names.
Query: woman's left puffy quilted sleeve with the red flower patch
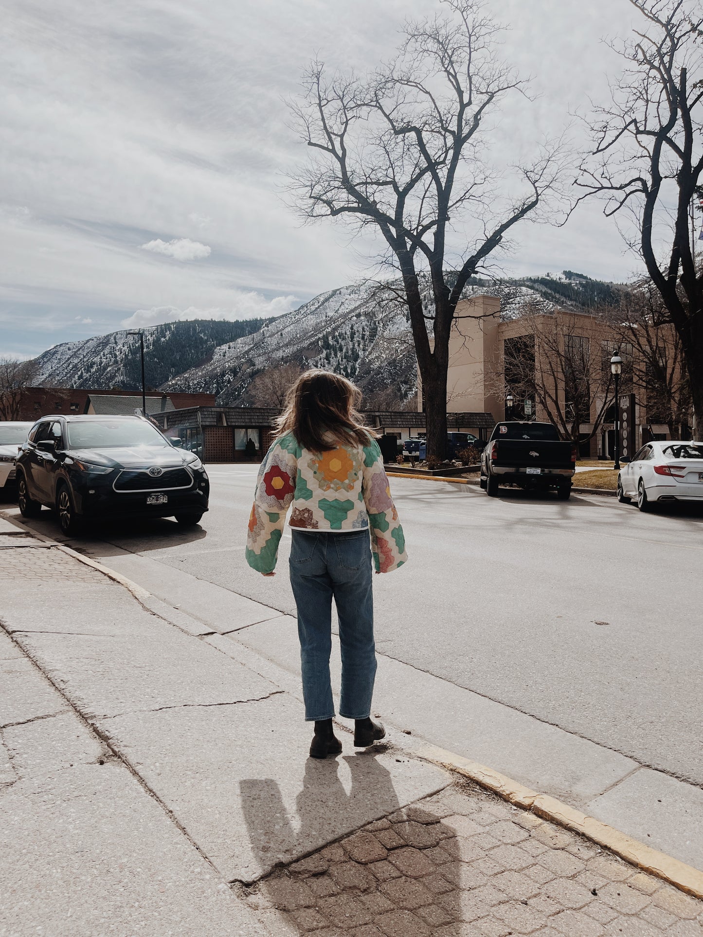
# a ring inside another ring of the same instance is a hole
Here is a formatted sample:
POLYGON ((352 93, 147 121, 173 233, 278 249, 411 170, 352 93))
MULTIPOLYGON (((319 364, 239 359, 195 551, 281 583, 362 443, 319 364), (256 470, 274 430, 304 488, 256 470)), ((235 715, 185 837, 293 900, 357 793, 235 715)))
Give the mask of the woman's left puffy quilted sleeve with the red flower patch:
POLYGON ((258 573, 273 573, 283 527, 295 492, 297 459, 275 442, 259 469, 249 515, 247 563, 258 573))

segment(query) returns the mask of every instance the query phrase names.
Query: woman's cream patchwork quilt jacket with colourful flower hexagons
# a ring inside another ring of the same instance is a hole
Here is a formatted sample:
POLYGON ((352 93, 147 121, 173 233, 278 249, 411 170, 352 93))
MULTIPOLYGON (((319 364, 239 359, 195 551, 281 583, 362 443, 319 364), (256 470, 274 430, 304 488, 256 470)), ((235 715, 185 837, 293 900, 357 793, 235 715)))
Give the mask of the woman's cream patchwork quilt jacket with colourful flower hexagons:
POLYGON ((390 573, 407 559, 403 528, 375 439, 363 448, 338 446, 325 453, 303 449, 292 433, 275 440, 259 470, 249 517, 247 563, 259 573, 276 568, 291 505, 292 528, 368 528, 378 573, 390 573))

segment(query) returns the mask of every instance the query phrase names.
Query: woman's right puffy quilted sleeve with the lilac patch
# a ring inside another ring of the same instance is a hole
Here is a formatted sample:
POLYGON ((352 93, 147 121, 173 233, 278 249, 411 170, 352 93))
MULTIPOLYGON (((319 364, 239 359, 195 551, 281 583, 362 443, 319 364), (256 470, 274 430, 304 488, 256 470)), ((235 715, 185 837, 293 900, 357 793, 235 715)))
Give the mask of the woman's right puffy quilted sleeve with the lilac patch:
POLYGON ((364 448, 364 502, 371 532, 371 553, 377 573, 391 573, 408 559, 403 528, 391 498, 378 442, 364 448))

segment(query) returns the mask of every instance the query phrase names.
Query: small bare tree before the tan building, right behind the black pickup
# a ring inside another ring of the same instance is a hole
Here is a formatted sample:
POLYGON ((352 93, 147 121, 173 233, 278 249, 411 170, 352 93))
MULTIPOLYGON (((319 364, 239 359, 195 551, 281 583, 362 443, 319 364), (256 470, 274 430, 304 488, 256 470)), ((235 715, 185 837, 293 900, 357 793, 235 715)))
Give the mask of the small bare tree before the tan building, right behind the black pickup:
MULTIPOLYGON (((610 364, 602 363, 600 320, 593 316, 526 307, 522 335, 504 342, 504 389, 530 400, 562 439, 584 442, 598 432, 613 402, 610 364), (590 424, 588 432, 581 431, 590 424)), ((504 393, 503 388, 500 389, 504 393)), ((519 409, 516 417, 522 417, 519 409)))

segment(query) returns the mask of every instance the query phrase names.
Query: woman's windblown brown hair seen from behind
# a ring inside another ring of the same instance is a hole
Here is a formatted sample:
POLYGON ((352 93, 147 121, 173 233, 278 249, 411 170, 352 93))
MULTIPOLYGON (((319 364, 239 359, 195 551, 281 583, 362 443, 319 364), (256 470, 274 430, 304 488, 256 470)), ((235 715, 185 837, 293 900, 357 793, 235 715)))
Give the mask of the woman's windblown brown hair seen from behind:
POLYGON ((336 444, 367 446, 378 434, 357 413, 360 403, 361 391, 351 380, 319 368, 306 371, 288 392, 277 434, 292 432, 299 445, 314 453, 328 452, 336 444))

